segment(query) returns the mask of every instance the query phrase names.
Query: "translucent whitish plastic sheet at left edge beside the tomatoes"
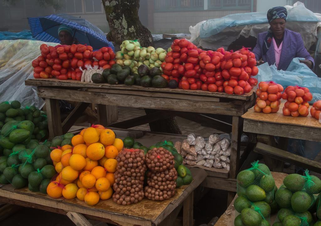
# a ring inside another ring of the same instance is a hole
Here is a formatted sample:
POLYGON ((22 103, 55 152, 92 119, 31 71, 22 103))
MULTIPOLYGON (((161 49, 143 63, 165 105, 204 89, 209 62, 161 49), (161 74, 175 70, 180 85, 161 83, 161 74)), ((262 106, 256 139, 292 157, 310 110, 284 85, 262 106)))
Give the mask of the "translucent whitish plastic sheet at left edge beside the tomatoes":
POLYGON ((0 102, 17 100, 23 107, 42 108, 44 100, 38 97, 34 87, 25 86, 24 81, 33 78, 31 62, 40 55, 39 47, 43 43, 23 39, 0 41, 0 102))

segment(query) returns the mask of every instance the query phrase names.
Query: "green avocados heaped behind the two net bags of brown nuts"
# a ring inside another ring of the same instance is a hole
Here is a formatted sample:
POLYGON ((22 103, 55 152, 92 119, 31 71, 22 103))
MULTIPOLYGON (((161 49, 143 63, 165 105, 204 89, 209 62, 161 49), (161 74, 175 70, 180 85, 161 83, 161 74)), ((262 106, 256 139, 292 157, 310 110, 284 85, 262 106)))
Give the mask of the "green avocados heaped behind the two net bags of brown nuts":
MULTIPOLYGON (((172 141, 160 141, 155 145, 150 147, 143 146, 139 142, 135 142, 134 138, 126 137, 123 139, 124 147, 126 148, 137 148, 144 151, 146 155, 149 150, 152 150, 155 147, 163 147, 167 149, 172 155, 174 155, 174 162, 175 162, 175 169, 177 171, 178 177, 176 180, 176 188, 181 187, 182 185, 190 184, 193 181, 193 177, 191 171, 184 166, 183 163, 183 156, 179 154, 174 147, 174 143, 172 141)), ((147 174, 147 171, 146 171, 147 174)))

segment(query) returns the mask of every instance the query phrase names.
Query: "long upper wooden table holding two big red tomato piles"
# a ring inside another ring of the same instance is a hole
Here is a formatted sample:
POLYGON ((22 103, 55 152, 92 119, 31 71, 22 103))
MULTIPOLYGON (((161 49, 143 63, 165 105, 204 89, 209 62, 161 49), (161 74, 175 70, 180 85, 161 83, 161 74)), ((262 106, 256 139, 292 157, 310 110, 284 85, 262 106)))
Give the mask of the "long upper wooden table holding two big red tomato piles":
MULTIPOLYGON (((52 138, 61 135, 63 130, 73 124, 67 117, 61 123, 58 109, 58 99, 98 104, 99 123, 107 126, 105 105, 117 105, 136 108, 158 109, 152 115, 141 116, 125 122, 109 126, 117 128, 131 128, 140 124, 155 121, 169 116, 180 116, 200 123, 207 123, 217 130, 232 133, 230 172, 213 172, 213 177, 206 178, 204 185, 230 191, 229 202, 236 192, 236 176, 239 171, 240 140, 242 133, 243 115, 254 105, 255 93, 253 90, 243 96, 212 93, 202 90, 183 90, 170 88, 143 88, 139 86, 94 84, 74 80, 30 79, 28 86, 38 88, 39 97, 46 99, 49 136, 52 138), (215 114, 222 117, 230 116, 231 123, 220 120, 211 120, 203 114, 215 114), (63 128, 63 130, 62 130, 63 128)), ((74 110, 76 112, 76 110, 74 110)))

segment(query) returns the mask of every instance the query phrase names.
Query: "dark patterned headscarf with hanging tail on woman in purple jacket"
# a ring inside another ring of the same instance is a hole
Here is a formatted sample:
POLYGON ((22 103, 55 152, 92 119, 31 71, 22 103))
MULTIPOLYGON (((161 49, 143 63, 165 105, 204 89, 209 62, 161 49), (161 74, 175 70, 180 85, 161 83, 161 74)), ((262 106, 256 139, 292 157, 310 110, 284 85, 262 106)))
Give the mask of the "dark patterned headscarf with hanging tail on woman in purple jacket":
MULTIPOLYGON (((271 23, 273 20, 278 18, 283 18, 286 21, 287 16, 288 16, 288 11, 283 6, 273 7, 272 9, 269 9, 269 11, 267 11, 267 20, 269 21, 269 23, 271 23)), ((273 32, 271 28, 269 28, 264 40, 263 55, 266 54, 266 52, 270 48, 272 37, 273 37, 273 32)))

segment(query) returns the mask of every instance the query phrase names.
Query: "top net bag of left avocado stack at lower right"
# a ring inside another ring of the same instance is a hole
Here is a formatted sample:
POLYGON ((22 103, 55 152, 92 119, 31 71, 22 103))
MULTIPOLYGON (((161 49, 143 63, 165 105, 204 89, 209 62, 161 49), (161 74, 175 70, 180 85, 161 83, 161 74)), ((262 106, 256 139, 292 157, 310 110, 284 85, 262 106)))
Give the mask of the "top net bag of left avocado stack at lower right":
POLYGON ((252 167, 239 172, 237 176, 237 194, 251 202, 265 202, 272 205, 276 190, 274 179, 269 168, 258 161, 252 167))

